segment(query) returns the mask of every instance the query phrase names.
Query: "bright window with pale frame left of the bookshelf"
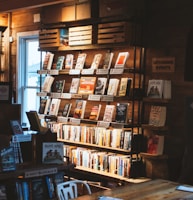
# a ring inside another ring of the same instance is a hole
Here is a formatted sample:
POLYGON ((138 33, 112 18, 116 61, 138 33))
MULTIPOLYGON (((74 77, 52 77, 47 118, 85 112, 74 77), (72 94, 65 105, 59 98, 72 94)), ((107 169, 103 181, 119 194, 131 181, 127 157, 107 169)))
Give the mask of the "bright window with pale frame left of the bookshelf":
POLYGON ((40 99, 40 69, 43 58, 39 48, 38 32, 18 34, 17 103, 21 104, 21 122, 29 125, 26 111, 38 110, 40 99))

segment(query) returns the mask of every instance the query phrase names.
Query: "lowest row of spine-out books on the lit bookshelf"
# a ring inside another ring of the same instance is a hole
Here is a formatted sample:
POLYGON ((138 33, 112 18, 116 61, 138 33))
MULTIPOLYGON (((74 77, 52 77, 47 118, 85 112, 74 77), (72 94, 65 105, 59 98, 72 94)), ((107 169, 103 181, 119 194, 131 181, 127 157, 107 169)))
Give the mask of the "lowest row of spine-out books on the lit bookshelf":
POLYGON ((65 145, 64 152, 68 153, 72 163, 77 167, 84 167, 122 177, 129 177, 131 157, 86 148, 72 148, 65 145))

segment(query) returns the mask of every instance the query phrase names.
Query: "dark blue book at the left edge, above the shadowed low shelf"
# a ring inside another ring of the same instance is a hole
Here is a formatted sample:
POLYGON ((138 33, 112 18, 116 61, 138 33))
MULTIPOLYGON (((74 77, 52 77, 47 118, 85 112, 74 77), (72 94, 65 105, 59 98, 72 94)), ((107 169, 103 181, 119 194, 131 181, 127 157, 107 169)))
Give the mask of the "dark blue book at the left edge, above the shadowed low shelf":
POLYGON ((12 146, 4 148, 0 151, 1 155, 1 171, 15 171, 16 163, 15 163, 15 154, 12 146))

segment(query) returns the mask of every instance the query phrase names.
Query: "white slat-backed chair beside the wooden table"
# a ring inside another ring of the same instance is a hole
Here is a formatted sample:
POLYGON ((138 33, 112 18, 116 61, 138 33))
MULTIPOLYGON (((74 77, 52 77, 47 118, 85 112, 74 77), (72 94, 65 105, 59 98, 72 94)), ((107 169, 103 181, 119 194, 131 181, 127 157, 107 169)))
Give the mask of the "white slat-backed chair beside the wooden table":
POLYGON ((78 185, 83 186, 87 189, 87 193, 91 194, 91 189, 88 183, 82 180, 71 180, 57 185, 57 195, 59 200, 69 200, 74 199, 79 196, 78 185))

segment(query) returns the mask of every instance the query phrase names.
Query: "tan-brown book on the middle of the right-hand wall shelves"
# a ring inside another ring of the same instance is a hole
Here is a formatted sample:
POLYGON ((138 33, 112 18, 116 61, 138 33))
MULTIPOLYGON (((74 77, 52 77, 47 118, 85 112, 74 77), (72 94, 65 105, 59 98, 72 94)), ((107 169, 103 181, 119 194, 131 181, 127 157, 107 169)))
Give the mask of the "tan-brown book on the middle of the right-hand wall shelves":
POLYGON ((149 125, 164 126, 166 122, 166 106, 151 105, 149 125))

